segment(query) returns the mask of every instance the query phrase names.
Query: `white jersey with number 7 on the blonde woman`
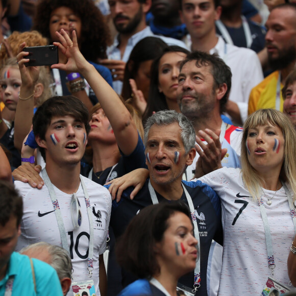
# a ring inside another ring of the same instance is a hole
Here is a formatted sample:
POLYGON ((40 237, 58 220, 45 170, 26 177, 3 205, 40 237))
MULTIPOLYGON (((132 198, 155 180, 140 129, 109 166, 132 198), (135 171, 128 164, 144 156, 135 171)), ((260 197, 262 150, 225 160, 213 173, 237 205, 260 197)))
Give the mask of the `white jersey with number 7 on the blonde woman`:
POLYGON ((259 204, 250 198, 249 191, 245 189, 240 169, 224 167, 199 180, 214 189, 221 199, 224 249, 218 294, 237 296, 242 291, 243 294, 260 295, 268 277, 287 285, 287 259, 294 238, 294 226, 284 188, 276 194, 263 189, 269 198, 274 196, 270 206, 266 205, 267 197, 262 195, 272 234, 276 264, 273 276, 268 268, 259 204))

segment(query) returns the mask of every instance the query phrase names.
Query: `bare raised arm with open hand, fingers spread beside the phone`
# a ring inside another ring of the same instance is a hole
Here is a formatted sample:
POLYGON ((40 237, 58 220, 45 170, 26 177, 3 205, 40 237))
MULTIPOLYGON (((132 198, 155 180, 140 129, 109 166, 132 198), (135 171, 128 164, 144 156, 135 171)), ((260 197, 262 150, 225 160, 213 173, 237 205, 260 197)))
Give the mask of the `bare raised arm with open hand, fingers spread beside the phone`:
POLYGON ((137 128, 130 112, 100 73, 83 57, 78 48, 76 32, 73 31, 72 33, 73 40, 64 30, 61 30, 61 34, 58 32, 56 34, 61 43, 54 42, 54 44, 59 46, 68 62, 66 64, 52 65, 52 68, 80 72, 83 75, 110 121, 120 150, 125 155, 130 155, 138 142, 137 128))

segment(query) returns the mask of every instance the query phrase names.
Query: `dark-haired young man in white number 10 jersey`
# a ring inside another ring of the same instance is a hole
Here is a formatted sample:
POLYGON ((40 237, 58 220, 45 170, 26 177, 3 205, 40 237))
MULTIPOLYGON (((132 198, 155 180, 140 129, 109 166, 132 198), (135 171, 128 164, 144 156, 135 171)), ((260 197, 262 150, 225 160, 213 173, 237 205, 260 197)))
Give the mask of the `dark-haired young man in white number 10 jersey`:
POLYGON ((103 253, 111 197, 104 187, 80 176, 89 129, 88 111, 76 97, 45 101, 33 117, 33 131, 46 162, 40 173, 45 184, 39 190, 15 182, 24 203, 17 250, 39 241, 66 249, 72 260, 73 281, 79 282, 72 283, 68 295, 76 292, 76 285, 82 287, 83 281, 92 287, 90 292, 100 295, 99 268, 100 289, 106 285, 103 253))

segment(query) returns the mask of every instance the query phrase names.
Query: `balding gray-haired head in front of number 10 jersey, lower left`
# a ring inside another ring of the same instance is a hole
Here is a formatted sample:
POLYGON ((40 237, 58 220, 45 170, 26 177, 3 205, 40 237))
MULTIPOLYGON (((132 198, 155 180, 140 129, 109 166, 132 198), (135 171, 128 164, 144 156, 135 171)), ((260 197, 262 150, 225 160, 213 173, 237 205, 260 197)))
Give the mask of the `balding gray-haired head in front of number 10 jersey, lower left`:
POLYGON ((46 262, 55 268, 61 283, 63 295, 67 294, 71 286, 72 263, 65 249, 58 245, 40 241, 26 246, 19 253, 46 262))

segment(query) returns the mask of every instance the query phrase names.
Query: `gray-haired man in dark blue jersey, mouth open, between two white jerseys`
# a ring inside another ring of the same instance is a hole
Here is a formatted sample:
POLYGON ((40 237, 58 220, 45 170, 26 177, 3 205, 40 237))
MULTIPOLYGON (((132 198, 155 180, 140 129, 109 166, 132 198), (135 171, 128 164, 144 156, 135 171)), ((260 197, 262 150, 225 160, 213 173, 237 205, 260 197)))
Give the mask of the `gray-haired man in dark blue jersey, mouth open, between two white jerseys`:
MULTIPOLYGON (((113 201, 110 225, 115 236, 120 236, 129 221, 144 207, 159 202, 182 201, 190 208, 194 235, 199 241, 202 256, 198 255, 194 273, 180 279, 188 289, 199 286, 206 279, 207 263, 212 239, 223 242, 221 231, 221 206, 217 194, 202 182, 182 182, 185 168, 195 157, 195 132, 191 121, 174 110, 159 111, 147 119, 144 134, 146 164, 149 178, 135 200, 130 200, 131 188, 125 190, 119 202, 113 201)), ((176 251, 177 252, 177 251, 176 251)), ((183 253, 184 254, 184 253, 183 253)), ((182 252, 180 253, 182 256, 182 252)), ((135 278, 124 273, 123 284, 135 278)), ((207 291, 206 280, 198 290, 207 291)))

